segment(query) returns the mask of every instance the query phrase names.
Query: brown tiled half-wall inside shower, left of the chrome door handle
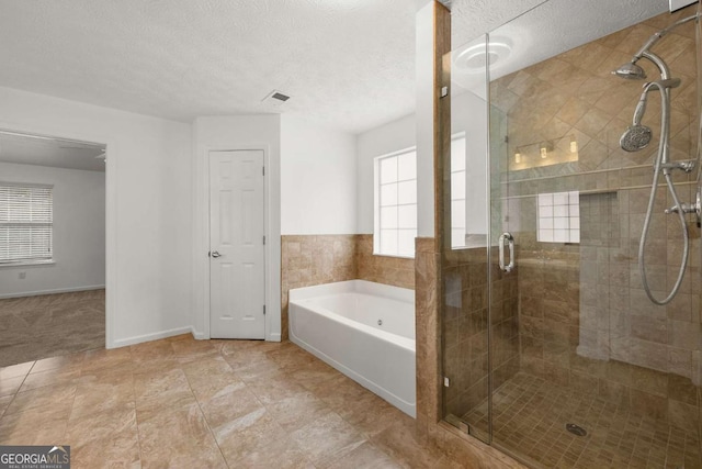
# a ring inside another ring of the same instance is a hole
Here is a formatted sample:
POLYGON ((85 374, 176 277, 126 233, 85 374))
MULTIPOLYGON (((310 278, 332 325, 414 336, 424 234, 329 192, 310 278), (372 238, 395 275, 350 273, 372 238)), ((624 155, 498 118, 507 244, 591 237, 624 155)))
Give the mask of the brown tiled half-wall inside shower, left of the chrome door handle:
MULTIPOLYGON (((497 249, 491 253, 497 259, 497 249)), ((444 254, 444 413, 463 416, 487 399, 488 327, 492 336, 494 384, 499 387, 519 371, 517 276, 490 269, 488 291, 487 249, 471 248, 444 254), (488 324, 488 303, 491 321, 488 324)), ((487 431, 487 428, 484 428, 487 431)))

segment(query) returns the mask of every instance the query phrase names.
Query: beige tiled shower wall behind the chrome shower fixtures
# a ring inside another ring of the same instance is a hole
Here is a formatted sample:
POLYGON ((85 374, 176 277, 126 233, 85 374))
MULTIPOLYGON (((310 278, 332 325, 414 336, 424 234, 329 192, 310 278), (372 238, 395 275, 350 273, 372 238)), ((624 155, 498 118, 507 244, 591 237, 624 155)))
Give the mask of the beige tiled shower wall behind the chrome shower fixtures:
MULTIPOLYGON (((500 196, 503 227, 518 245, 522 370, 691 431, 700 410, 700 232, 689 223, 690 267, 680 293, 666 306, 654 305, 642 287, 637 249, 658 142, 638 153, 619 148, 641 83, 610 70, 653 33, 693 13, 688 8, 657 16, 491 83, 494 103, 507 115, 507 160, 539 142, 557 148, 575 136, 578 148, 577 160, 553 166, 503 163, 511 169, 502 174, 500 196), (536 197, 562 191, 580 192, 581 241, 539 243, 536 197)), ((691 159, 698 138, 693 24, 660 41, 656 52, 682 80, 672 90, 672 159, 691 159)), ((659 99, 652 96, 644 124, 656 136, 659 115, 659 99)), ((675 176, 682 201, 692 200, 694 176, 675 176)), ((680 228, 675 216, 663 214, 670 205, 660 188, 647 249, 658 298, 672 287, 680 263, 680 228)))

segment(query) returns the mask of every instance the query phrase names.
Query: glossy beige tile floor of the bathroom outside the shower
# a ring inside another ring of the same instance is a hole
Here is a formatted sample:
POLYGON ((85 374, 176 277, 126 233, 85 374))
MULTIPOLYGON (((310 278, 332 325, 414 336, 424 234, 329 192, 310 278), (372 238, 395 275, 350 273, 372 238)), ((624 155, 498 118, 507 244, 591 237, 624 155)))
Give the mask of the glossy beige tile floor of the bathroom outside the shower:
POLYGON ((185 335, 0 368, 0 445, 70 445, 73 468, 462 467, 415 427, 291 343, 185 335))

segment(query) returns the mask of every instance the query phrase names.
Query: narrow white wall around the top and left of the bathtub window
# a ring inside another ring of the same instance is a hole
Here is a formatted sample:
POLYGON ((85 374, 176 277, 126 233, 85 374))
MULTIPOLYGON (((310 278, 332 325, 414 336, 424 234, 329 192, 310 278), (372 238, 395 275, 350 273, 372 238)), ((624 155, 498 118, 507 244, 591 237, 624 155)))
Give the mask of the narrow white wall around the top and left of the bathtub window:
POLYGON ((415 114, 375 127, 356 137, 358 232, 373 233, 374 181, 373 159, 417 144, 415 114))

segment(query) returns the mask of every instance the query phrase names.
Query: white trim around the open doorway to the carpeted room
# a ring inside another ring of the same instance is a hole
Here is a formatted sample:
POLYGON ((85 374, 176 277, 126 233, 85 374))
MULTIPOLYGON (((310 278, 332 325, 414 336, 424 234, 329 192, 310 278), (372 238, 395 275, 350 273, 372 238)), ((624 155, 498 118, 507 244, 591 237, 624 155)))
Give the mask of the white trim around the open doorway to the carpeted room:
POLYGON ((105 348, 115 348, 114 312, 117 311, 117 145, 113 137, 42 125, 0 121, 0 129, 105 145, 105 348))

